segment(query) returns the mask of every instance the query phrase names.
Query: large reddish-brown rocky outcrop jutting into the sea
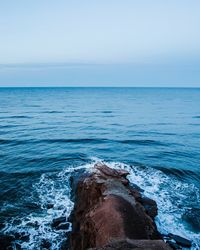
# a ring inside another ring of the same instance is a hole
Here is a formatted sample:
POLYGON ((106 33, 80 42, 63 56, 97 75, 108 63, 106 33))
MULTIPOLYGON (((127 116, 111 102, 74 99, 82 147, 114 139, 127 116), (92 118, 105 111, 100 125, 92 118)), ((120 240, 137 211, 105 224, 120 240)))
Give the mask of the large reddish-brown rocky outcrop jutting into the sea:
POLYGON ((79 180, 71 249, 171 249, 154 222, 156 203, 131 187, 127 175, 125 170, 97 164, 79 180))

